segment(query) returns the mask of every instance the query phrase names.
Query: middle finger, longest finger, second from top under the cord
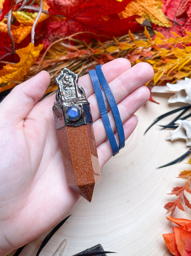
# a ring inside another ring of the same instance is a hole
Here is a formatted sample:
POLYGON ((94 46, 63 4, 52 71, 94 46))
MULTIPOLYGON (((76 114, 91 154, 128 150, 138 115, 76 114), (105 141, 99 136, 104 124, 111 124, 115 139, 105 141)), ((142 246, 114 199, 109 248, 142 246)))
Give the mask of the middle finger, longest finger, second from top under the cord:
MULTIPOLYGON (((114 95, 116 103, 123 100, 128 94, 142 86, 153 77, 153 68, 147 63, 138 63, 127 71, 123 72, 120 76, 115 78, 109 83, 111 91, 114 95)), ((93 121, 100 118, 99 107, 95 94, 92 94, 88 101, 92 112, 93 121)), ((109 104, 105 100, 106 109, 109 109, 109 104)))

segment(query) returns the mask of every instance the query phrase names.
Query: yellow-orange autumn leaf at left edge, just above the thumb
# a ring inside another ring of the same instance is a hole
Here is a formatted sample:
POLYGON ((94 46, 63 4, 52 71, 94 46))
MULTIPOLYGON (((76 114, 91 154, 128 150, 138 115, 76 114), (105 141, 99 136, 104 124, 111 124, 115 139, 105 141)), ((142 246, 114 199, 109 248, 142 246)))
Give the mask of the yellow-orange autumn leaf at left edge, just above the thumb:
POLYGON ((30 67, 37 60, 43 45, 34 47, 32 43, 25 48, 16 50, 20 61, 16 64, 7 64, 0 70, 0 92, 13 88, 15 83, 12 81, 22 81, 29 72, 30 67), (6 84, 5 84, 6 83, 6 84))

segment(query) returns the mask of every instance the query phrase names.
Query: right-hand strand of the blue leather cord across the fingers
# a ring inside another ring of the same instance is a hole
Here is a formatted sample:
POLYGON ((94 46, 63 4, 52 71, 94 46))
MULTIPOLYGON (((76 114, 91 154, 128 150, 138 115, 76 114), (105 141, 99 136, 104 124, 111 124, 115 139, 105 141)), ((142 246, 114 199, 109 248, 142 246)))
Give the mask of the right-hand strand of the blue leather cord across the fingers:
POLYGON ((119 109, 115 101, 115 98, 113 96, 113 93, 109 87, 109 84, 105 79, 104 73, 102 72, 101 65, 95 66, 95 69, 96 69, 96 74, 99 79, 100 85, 105 93, 105 96, 108 100, 108 103, 111 108, 111 112, 115 120, 115 125, 118 132, 118 137, 119 137, 119 149, 121 149, 125 146, 125 135, 123 130, 123 123, 121 121, 120 114, 119 114, 119 109))

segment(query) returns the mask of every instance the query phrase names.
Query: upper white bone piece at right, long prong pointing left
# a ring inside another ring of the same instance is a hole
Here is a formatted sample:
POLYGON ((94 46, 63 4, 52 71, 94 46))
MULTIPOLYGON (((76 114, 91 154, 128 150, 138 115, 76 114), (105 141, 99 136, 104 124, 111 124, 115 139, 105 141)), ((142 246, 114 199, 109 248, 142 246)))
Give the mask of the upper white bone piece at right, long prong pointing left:
POLYGON ((175 93, 168 99, 168 103, 184 102, 191 104, 191 79, 178 80, 176 84, 167 83, 166 86, 154 86, 152 93, 175 93))

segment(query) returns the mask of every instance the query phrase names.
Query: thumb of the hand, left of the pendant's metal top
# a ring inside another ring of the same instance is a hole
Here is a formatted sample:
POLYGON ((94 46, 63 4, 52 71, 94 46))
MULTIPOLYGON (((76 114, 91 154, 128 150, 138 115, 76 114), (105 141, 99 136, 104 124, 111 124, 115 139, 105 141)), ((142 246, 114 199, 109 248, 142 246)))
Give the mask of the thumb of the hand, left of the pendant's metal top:
POLYGON ((9 124, 20 122, 42 98, 49 84, 49 73, 42 71, 22 84, 15 86, 0 103, 0 118, 7 120, 9 124))

